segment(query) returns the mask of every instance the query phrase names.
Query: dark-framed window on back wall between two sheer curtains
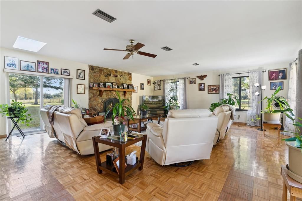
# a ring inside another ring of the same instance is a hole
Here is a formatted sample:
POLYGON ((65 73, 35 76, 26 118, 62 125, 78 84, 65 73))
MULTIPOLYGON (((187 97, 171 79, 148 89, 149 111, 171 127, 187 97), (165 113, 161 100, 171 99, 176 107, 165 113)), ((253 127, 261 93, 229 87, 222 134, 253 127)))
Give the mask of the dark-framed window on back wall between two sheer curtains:
POLYGON ((240 104, 236 105, 237 111, 249 109, 249 76, 233 77, 233 94, 239 98, 240 104))

